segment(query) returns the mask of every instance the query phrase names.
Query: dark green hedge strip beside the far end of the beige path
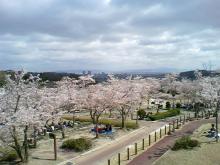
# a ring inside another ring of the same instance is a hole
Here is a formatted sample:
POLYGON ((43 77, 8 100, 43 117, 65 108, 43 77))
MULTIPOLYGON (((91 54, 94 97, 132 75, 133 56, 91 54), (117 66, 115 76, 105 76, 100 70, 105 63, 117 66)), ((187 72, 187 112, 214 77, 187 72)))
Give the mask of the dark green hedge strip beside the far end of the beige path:
POLYGON ((154 120, 160 120, 160 119, 165 119, 167 117, 172 117, 172 116, 177 116, 180 114, 179 109, 170 109, 166 112, 158 112, 154 115, 150 115, 149 118, 154 121, 154 120))

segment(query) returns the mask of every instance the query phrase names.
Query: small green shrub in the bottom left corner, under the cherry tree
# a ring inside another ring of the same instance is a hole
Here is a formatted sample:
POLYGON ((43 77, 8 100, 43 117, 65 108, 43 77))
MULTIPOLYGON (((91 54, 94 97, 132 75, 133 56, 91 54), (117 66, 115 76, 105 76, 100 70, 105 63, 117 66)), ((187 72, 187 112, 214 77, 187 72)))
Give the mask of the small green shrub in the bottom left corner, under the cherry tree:
POLYGON ((0 162, 14 161, 16 159, 17 159, 17 153, 14 150, 0 147, 0 162))

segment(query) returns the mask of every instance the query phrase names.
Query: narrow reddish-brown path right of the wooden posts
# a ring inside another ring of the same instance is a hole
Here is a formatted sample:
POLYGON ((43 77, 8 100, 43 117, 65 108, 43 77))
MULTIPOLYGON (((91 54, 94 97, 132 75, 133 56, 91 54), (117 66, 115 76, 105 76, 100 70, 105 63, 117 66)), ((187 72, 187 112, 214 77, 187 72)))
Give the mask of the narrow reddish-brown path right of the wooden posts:
POLYGON ((155 160, 159 159, 170 149, 177 138, 183 135, 191 135, 202 124, 211 122, 214 122, 214 119, 195 120, 187 123, 180 130, 176 130, 176 132, 172 135, 164 137, 151 148, 134 158, 128 163, 128 165, 151 165, 155 160))

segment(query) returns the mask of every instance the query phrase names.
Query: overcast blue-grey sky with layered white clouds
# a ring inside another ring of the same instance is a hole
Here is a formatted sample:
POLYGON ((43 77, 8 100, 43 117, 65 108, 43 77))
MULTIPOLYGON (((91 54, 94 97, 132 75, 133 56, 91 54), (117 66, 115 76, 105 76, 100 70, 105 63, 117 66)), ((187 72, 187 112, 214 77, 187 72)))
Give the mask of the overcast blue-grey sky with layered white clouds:
POLYGON ((219 0, 0 0, 0 70, 220 68, 219 0))

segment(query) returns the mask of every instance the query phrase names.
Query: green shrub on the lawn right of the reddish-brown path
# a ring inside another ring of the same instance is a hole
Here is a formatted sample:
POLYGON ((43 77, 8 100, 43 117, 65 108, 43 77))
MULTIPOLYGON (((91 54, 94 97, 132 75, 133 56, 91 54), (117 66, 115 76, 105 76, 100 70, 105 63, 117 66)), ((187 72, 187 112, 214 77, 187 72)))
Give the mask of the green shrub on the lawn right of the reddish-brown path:
POLYGON ((199 146, 199 141, 191 139, 189 136, 183 136, 180 139, 177 139, 172 150, 180 149, 192 149, 193 147, 199 146))

